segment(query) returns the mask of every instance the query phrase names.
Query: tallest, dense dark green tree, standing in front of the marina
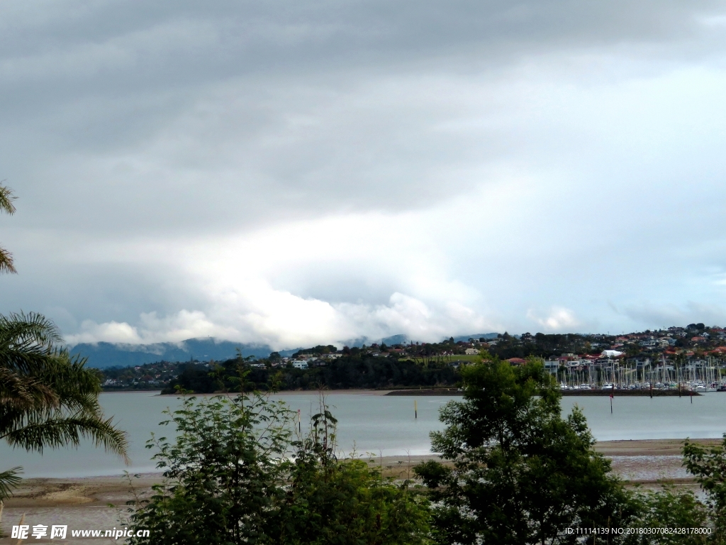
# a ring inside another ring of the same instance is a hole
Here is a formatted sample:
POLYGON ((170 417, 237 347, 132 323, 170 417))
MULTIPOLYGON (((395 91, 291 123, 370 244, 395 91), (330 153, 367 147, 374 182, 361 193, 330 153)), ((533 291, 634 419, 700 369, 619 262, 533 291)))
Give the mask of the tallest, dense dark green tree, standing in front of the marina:
POLYGON ((577 408, 563 419, 542 363, 462 369, 464 400, 441 411, 433 451, 449 465, 415 468, 431 489, 442 544, 575 543, 568 528, 624 525, 635 504, 577 408))

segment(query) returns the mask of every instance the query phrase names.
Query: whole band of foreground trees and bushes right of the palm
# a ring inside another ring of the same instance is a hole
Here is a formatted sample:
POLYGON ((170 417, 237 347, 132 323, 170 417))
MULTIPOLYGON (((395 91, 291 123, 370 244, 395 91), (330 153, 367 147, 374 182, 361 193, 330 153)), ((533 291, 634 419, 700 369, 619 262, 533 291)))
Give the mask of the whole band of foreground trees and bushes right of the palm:
MULTIPOLYGON (((257 394, 188 398, 171 413, 174 441, 150 443, 165 483, 131 509, 132 544, 723 544, 726 438, 687 443, 685 464, 709 501, 689 491, 629 491, 578 410, 563 419, 542 366, 498 360, 463 371, 465 397, 441 411, 434 448, 448 464, 415 468, 427 489, 383 480, 335 457, 322 401, 309 435, 284 403, 257 394), (574 528, 708 528, 711 533, 584 536, 574 528)), ((240 379, 240 387, 244 382, 240 379)))

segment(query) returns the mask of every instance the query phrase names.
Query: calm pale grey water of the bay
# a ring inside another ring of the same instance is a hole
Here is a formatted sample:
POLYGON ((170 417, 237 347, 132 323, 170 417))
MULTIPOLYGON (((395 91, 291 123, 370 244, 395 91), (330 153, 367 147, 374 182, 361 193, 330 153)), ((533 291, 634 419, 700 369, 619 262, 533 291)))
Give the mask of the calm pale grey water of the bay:
MULTIPOLYGON (((280 396, 293 411, 301 409, 303 422, 317 406, 317 395, 280 396)), ((380 395, 331 394, 328 403, 338 419, 338 445, 343 451, 399 456, 407 452, 431 451, 428 433, 442 429, 439 409, 452 397, 398 397, 380 395), (414 418, 414 400, 418 418, 414 418)), ((453 399, 460 399, 454 397, 453 399)), ((84 444, 81 448, 46 451, 43 456, 14 451, 0 443, 0 471, 14 466, 25 468, 25 477, 76 477, 153 472, 153 451, 144 448, 151 432, 171 435, 171 429, 158 426, 162 411, 176 408, 175 397, 155 393, 110 393, 101 395, 107 415, 129 432, 132 464, 123 463, 102 449, 84 444)), ((726 394, 709 393, 694 397, 615 397, 613 414, 608 397, 563 397, 563 413, 579 405, 598 440, 669 439, 721 437, 726 432, 726 394)), ((317 412, 317 411, 314 411, 317 412)))

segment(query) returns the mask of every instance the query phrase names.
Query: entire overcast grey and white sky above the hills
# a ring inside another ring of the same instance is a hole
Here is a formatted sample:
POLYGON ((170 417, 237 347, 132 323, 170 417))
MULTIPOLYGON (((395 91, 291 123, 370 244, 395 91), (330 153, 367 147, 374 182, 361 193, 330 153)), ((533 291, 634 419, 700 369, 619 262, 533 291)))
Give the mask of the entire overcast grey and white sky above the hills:
POLYGON ((723 1, 9 0, 0 119, 70 343, 726 325, 723 1))

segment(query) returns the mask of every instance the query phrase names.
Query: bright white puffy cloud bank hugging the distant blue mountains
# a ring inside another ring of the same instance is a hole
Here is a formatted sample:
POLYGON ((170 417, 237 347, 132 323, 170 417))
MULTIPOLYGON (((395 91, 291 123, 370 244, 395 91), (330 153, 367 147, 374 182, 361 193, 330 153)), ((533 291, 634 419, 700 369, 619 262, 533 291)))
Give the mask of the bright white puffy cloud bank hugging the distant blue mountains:
POLYGON ((273 348, 309 346, 319 343, 342 344, 367 336, 380 339, 404 333, 412 339, 439 340, 453 331, 485 327, 484 320, 462 305, 451 305, 434 312, 425 303, 404 294, 393 294, 389 304, 331 305, 314 299, 267 289, 254 296, 227 293, 234 303, 204 312, 181 310, 175 315, 158 317, 155 312, 139 317, 139 326, 129 323, 94 323, 86 320, 81 332, 66 336, 66 342, 100 341, 122 344, 181 342, 213 336, 239 342, 264 342, 273 348), (264 304, 260 305, 262 301, 264 304), (462 329, 464 328, 464 329, 462 329))

